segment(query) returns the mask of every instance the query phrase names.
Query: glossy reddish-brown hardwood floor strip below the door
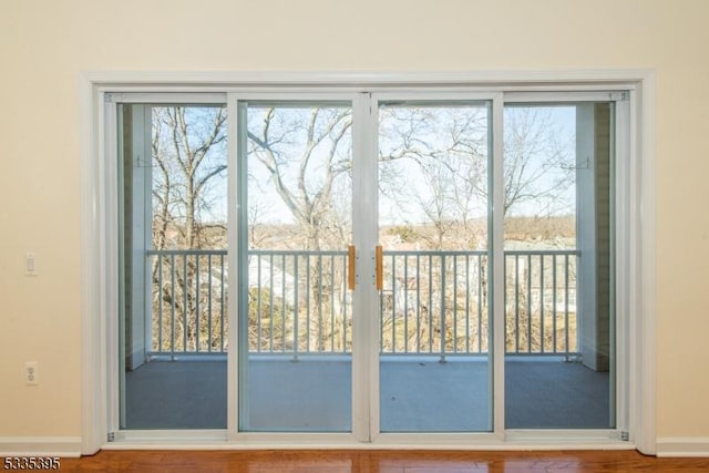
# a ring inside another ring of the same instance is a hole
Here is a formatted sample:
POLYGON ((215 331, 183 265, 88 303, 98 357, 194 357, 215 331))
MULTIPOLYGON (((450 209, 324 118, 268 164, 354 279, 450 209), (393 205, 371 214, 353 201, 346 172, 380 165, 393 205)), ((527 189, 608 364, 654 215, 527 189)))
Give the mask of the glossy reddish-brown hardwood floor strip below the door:
POLYGON ((709 459, 657 459, 635 451, 103 451, 62 459, 64 472, 237 473, 605 473, 709 472, 709 459))

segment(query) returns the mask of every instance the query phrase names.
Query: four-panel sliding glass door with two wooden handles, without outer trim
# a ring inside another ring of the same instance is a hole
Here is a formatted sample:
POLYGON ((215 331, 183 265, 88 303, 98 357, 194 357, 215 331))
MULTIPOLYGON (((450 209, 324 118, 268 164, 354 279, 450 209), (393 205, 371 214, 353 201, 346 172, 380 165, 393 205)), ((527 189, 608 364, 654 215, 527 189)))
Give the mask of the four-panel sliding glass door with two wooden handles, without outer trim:
POLYGON ((586 95, 119 103, 117 428, 618 428, 619 97, 586 95))

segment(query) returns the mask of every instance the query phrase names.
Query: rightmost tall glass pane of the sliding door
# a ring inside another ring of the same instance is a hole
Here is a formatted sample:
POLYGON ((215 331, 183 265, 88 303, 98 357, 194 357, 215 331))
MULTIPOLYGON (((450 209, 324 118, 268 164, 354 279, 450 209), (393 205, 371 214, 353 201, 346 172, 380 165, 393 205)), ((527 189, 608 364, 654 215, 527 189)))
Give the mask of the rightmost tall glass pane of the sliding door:
POLYGON ((504 111, 507 429, 615 426, 612 111, 504 111))

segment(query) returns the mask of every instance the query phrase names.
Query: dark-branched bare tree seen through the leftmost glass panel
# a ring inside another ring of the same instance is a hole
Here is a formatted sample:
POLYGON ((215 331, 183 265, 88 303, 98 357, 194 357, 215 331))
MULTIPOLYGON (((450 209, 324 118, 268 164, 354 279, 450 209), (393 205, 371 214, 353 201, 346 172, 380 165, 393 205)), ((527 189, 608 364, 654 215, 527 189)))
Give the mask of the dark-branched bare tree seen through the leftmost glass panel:
MULTIPOLYGON (((215 205, 225 199, 219 192, 226 189, 225 125, 226 110, 219 106, 152 109, 153 248, 224 247, 226 216, 215 205)), ((220 260, 184 254, 168 261, 153 260, 153 287, 160 288, 154 291, 154 325, 161 318, 164 327, 175 323, 176 342, 186 343, 185 350, 195 349, 197 340, 202 349, 204 343, 220 348, 223 340, 205 332, 204 308, 224 301, 202 287, 209 278, 220 279, 213 276, 222 270, 220 260), (181 316, 171 317, 173 310, 181 316)), ((163 341, 169 343, 167 337, 163 341)))

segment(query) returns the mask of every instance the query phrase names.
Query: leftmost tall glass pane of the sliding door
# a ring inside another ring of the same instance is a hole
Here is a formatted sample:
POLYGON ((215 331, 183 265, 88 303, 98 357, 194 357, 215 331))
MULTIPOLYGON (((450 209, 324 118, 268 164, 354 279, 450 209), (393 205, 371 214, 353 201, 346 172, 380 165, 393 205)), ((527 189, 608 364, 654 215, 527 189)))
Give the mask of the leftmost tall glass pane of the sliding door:
POLYGON ((119 123, 121 428, 226 429, 226 109, 119 123))

